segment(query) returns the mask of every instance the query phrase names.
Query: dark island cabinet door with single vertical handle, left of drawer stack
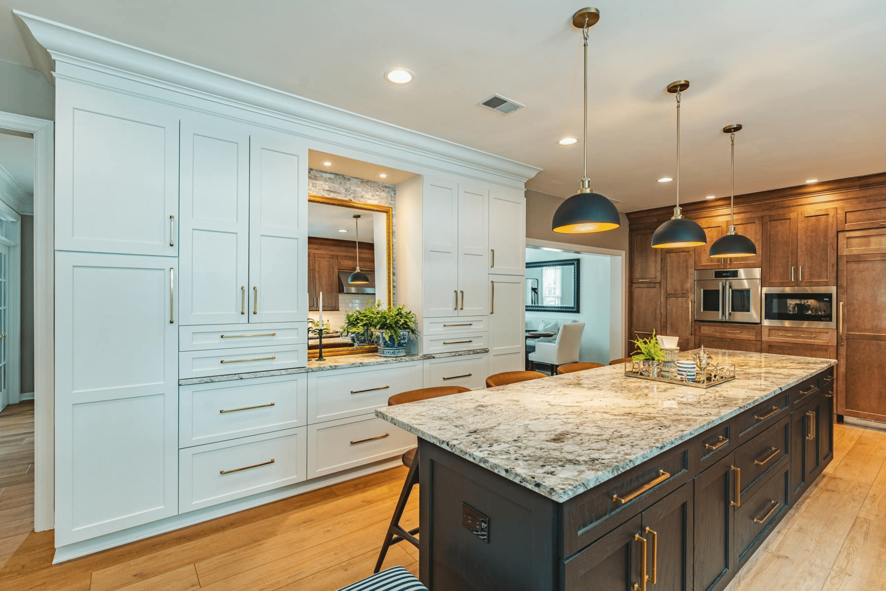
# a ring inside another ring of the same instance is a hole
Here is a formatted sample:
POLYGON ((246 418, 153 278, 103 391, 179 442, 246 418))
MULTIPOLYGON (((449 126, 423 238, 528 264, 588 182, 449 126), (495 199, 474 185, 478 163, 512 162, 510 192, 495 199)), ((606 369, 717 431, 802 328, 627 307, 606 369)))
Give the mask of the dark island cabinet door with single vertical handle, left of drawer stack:
POLYGON ((698 591, 719 591, 727 586, 735 569, 734 551, 734 455, 729 454, 698 475, 696 494, 695 579, 698 591))

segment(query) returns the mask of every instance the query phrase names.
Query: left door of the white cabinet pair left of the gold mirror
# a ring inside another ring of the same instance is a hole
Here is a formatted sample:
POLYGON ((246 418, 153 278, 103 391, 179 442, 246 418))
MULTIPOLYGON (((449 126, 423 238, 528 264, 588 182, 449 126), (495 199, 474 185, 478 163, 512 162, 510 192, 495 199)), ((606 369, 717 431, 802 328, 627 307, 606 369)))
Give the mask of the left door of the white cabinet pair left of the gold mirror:
POLYGON ((181 323, 246 323, 248 131, 221 119, 182 121, 181 175, 181 323))

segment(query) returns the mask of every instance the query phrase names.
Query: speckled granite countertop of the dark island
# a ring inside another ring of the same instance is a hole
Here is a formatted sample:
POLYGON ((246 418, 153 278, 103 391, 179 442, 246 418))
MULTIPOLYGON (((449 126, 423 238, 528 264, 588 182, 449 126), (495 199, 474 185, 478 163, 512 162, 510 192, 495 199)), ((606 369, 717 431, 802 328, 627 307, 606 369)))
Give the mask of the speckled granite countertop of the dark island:
POLYGON ((835 364, 709 353, 735 365, 733 381, 701 389, 625 377, 624 366, 613 365, 378 408, 376 415, 565 502, 835 364))

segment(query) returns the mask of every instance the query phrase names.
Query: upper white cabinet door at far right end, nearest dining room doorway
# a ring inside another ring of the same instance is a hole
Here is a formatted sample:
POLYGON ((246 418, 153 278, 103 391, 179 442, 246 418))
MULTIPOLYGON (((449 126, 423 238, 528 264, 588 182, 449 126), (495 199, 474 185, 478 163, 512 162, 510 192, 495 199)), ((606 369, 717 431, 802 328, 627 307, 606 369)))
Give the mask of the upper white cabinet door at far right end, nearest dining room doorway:
POLYGON ((524 191, 501 185, 489 190, 489 272, 525 275, 526 198, 524 191))

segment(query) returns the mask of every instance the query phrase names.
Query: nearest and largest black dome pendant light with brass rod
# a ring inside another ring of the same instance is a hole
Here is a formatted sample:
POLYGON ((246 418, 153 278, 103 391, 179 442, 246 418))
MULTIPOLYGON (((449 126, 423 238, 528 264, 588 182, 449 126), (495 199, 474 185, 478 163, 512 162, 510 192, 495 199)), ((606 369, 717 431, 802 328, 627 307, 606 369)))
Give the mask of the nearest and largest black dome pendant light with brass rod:
POLYGON ((600 11, 595 8, 582 8, 572 15, 572 26, 580 28, 585 38, 585 175, 579 192, 563 201, 554 212, 551 229, 561 234, 603 232, 621 225, 618 209, 609 199, 591 191, 591 181, 587 178, 587 29, 594 27, 598 20, 600 11))

